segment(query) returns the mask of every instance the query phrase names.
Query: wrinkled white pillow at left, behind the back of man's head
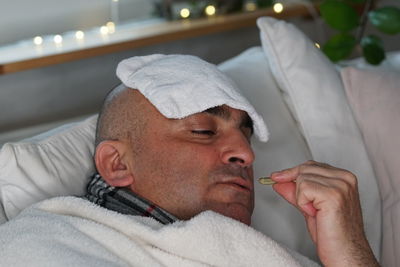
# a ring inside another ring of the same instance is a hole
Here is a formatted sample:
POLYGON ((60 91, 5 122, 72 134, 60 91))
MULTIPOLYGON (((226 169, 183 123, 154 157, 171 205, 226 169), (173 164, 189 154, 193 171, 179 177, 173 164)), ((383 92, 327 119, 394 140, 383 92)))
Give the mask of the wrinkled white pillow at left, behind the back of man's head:
POLYGON ((8 220, 44 199, 83 195, 95 170, 96 121, 97 115, 2 147, 0 199, 8 220))

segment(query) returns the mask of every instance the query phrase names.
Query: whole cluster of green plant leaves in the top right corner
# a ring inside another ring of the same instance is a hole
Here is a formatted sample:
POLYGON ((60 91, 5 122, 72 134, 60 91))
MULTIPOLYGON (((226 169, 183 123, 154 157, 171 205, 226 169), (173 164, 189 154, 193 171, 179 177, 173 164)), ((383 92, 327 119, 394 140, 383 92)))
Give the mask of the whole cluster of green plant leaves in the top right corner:
POLYGON ((373 65, 385 59, 382 40, 365 34, 367 23, 385 34, 400 32, 400 9, 395 6, 374 8, 374 0, 324 0, 320 5, 323 20, 338 31, 322 47, 323 52, 334 62, 348 58, 359 48, 365 60, 373 65), (363 4, 360 12, 355 6, 363 4))

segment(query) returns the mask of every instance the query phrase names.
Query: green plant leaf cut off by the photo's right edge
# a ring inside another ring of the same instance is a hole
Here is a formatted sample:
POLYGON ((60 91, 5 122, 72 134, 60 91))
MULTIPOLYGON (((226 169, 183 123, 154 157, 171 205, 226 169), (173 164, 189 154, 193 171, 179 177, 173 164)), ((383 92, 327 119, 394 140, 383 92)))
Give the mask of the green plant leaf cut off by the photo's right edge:
POLYGON ((369 21, 380 31, 387 34, 400 32, 400 9, 387 6, 368 13, 369 21))

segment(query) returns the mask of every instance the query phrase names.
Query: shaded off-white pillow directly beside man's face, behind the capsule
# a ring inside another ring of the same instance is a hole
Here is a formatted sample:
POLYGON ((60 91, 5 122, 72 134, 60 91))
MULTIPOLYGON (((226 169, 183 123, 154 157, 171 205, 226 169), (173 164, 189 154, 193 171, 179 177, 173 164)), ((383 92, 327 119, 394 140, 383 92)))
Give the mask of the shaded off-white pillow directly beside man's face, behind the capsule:
MULTIPOLYGON (((261 47, 251 48, 219 68, 263 116, 270 131, 267 143, 252 140, 255 178, 311 159, 311 153, 287 109, 261 47)), ((317 259, 304 217, 269 186, 255 182, 256 205, 252 226, 288 247, 317 259)))

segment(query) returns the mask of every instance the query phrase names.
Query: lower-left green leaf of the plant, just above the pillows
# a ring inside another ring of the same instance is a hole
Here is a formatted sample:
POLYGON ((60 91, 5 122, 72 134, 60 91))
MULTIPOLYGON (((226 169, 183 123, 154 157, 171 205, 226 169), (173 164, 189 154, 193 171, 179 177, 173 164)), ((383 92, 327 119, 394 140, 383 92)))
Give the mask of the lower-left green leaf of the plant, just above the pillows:
POLYGON ((345 59, 353 51, 356 45, 356 38, 350 34, 339 33, 333 36, 322 47, 322 51, 333 62, 345 59))

